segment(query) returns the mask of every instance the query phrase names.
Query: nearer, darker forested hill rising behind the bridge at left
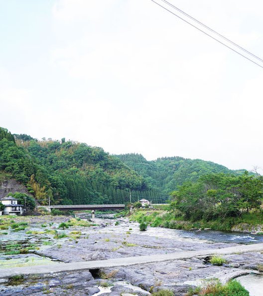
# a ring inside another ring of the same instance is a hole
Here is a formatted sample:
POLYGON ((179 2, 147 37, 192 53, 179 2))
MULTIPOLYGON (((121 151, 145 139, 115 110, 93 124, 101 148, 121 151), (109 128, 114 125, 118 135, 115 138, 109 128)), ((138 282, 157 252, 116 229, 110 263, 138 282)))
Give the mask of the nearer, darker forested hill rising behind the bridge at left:
POLYGON ((142 176, 102 148, 71 141, 37 141, 0 128, 0 179, 27 186, 40 204, 125 203, 132 190, 152 195, 142 176))

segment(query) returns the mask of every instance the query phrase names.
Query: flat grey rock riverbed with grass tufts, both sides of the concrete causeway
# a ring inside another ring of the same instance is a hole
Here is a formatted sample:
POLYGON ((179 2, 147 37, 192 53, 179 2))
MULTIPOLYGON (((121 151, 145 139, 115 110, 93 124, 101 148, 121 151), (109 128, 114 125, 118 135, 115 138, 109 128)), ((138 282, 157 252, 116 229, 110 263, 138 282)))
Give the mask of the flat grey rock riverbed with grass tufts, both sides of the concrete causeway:
MULTIPOLYGON (((11 223, 19 222, 27 223, 24 229, 14 231, 15 228, 9 226, 8 229, 0 230, 0 268, 110 258, 122 260, 131 256, 238 245, 234 242, 215 242, 192 233, 186 235, 175 229, 150 228, 139 231, 138 224, 127 219, 95 219, 89 222, 46 216, 20 217, 11 223), (65 223, 64 229, 61 223, 65 223)), ((208 263, 209 258, 199 257, 118 269, 46 274, 41 277, 36 272, 35 275, 1 279, 0 294, 140 296, 168 289, 179 296, 185 295, 191 287, 202 285, 204 279, 226 281, 263 268, 263 254, 258 252, 223 257, 226 260, 223 266, 212 265, 208 263)))

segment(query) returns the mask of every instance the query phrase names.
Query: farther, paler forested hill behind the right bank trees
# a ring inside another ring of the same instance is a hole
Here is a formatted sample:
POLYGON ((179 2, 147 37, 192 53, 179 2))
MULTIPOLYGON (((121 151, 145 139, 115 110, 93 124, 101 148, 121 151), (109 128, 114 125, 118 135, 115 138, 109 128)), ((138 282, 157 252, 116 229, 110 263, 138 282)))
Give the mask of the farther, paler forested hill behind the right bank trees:
POLYGON ((227 167, 201 159, 179 156, 162 157, 147 161, 141 154, 129 153, 115 155, 142 175, 150 186, 167 195, 185 181, 196 181, 201 175, 210 173, 241 174, 245 170, 233 171, 227 167))

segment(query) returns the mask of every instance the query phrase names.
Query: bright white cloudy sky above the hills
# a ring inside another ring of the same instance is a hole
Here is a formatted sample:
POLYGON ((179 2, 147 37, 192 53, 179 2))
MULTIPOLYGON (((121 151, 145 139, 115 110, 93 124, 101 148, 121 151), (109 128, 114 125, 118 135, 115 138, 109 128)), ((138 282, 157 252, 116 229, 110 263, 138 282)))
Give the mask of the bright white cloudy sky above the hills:
MULTIPOLYGON (((170 0, 263 58, 263 2, 170 0)), ((263 69, 151 0, 0 0, 0 126, 263 168, 263 69)), ((263 170, 262 170, 263 172, 263 170)))

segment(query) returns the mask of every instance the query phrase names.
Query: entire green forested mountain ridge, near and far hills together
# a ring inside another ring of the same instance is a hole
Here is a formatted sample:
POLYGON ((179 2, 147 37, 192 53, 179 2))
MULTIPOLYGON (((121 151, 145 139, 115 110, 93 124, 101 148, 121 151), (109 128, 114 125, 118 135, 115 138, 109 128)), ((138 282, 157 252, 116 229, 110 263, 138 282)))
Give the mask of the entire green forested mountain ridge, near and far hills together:
POLYGON ((165 202, 185 181, 210 173, 240 174, 201 159, 179 156, 148 161, 141 154, 110 155, 103 148, 65 139, 39 141, 0 128, 0 181, 15 179, 40 204, 165 202))

